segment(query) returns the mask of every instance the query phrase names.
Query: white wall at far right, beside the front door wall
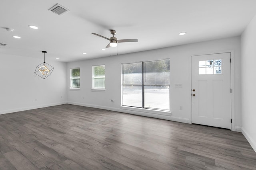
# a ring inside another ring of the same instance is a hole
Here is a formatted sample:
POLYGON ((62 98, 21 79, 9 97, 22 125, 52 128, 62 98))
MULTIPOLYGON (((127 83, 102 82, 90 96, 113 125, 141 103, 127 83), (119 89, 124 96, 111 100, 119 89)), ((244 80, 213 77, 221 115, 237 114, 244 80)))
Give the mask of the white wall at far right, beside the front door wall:
POLYGON ((242 133, 256 151, 256 16, 241 35, 242 133))

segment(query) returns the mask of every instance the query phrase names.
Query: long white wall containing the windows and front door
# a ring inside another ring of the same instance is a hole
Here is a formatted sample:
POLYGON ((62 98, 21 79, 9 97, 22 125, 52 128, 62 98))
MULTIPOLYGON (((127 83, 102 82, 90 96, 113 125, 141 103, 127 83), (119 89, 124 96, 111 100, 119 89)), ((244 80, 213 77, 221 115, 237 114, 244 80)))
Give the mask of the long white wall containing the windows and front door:
POLYGON ((68 103, 191 123, 191 55, 227 51, 232 52, 232 69, 236 68, 232 75, 234 81, 232 84, 234 92, 232 93, 234 107, 232 111, 234 117, 232 119, 235 120, 232 130, 240 131, 240 37, 68 63, 68 82, 69 68, 80 67, 80 90, 68 89, 68 103), (121 64, 166 58, 170 59, 170 109, 172 115, 166 116, 156 114, 156 112, 144 113, 120 109, 121 64), (94 92, 91 90, 92 66, 101 64, 105 64, 106 68, 106 92, 94 92), (174 88, 174 84, 183 84, 183 88, 174 88), (111 102, 111 99, 114 102, 111 102), (183 107, 182 111, 179 110, 180 106, 183 107))

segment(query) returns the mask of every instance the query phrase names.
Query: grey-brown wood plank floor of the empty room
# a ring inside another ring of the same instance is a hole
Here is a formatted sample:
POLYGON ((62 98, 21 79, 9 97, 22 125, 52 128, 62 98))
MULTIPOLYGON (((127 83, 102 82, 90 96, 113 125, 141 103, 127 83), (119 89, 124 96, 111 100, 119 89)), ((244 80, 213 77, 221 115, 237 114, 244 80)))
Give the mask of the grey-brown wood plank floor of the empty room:
POLYGON ((0 115, 1 170, 256 169, 242 133, 60 105, 0 115))

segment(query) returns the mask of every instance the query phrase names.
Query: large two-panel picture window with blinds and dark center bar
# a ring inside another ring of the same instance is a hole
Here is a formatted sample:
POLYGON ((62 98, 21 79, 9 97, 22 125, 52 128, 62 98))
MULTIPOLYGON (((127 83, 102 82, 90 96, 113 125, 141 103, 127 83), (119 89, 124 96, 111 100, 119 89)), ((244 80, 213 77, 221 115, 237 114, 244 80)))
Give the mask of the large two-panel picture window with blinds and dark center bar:
POLYGON ((170 111, 170 60, 122 64, 122 106, 170 111))

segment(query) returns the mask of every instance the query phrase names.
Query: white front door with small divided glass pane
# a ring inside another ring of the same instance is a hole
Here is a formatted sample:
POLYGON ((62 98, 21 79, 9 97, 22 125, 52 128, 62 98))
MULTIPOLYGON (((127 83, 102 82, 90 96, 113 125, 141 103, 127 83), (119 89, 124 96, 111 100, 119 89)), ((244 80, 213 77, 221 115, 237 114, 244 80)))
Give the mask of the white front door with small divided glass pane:
POLYGON ((191 60, 192 123, 231 129, 230 53, 191 60))

